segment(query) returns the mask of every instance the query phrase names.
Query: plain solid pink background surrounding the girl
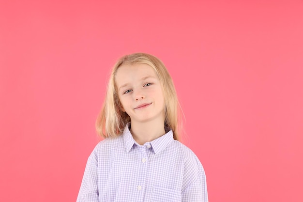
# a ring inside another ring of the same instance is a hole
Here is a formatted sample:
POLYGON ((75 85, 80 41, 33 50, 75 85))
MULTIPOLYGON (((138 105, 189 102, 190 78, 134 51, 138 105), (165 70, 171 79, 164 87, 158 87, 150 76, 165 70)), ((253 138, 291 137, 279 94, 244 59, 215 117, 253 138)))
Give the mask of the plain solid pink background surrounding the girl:
POLYGON ((302 0, 1 0, 0 201, 75 202, 122 55, 174 79, 211 202, 303 201, 302 0))

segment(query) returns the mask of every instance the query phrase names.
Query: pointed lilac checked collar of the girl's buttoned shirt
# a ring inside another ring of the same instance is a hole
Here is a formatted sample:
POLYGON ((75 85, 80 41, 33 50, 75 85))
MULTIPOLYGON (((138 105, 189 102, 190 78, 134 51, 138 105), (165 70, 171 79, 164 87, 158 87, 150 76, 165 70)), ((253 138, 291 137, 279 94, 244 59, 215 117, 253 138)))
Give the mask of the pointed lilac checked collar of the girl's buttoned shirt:
MULTIPOLYGON (((123 131, 123 139, 124 139, 124 145, 127 152, 129 152, 134 144, 137 144, 134 140, 131 132, 129 131, 129 124, 128 123, 125 126, 125 129, 123 131)), ((152 149, 155 154, 160 153, 162 150, 164 150, 172 141, 174 140, 172 130, 169 130, 166 134, 163 136, 152 140, 150 143, 152 145, 152 149)))

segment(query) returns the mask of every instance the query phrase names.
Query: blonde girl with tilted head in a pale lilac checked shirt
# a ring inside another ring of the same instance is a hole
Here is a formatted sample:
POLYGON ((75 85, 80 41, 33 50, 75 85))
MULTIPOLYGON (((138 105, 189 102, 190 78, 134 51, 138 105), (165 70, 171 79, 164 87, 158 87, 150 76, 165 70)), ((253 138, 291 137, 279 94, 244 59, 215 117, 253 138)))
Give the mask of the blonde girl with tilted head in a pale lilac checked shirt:
POLYGON ((179 103, 164 64, 146 53, 114 66, 77 202, 208 202, 197 156, 180 143, 179 103))

